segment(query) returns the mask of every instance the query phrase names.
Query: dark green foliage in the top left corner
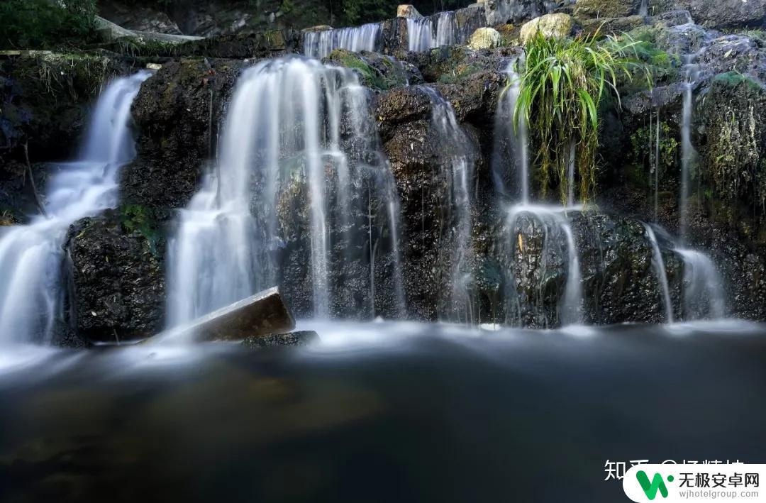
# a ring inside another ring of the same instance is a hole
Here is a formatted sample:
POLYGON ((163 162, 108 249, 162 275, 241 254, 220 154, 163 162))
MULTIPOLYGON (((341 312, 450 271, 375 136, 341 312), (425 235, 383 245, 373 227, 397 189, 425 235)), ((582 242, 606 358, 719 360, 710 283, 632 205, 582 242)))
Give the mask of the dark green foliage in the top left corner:
POLYGON ((3 0, 0 48, 56 48, 80 44, 93 33, 96 0, 3 0))

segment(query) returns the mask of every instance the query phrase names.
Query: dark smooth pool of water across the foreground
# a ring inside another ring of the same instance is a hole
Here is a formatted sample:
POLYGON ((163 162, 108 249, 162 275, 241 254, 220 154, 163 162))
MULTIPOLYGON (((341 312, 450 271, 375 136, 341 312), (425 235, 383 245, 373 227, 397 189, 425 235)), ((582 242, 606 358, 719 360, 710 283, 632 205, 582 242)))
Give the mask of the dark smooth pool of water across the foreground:
POLYGON ((607 460, 766 462, 764 325, 300 328, 2 348, 0 501, 627 501, 607 460))

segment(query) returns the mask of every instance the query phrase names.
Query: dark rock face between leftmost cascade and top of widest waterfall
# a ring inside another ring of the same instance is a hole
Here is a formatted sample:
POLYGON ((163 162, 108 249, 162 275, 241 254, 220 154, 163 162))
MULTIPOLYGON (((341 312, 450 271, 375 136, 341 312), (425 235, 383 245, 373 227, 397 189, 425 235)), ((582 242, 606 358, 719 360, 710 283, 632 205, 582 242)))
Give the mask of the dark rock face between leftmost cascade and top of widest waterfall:
POLYGON ((138 156, 120 174, 129 204, 182 208, 213 157, 223 107, 242 63, 181 60, 144 82, 133 102, 138 156))

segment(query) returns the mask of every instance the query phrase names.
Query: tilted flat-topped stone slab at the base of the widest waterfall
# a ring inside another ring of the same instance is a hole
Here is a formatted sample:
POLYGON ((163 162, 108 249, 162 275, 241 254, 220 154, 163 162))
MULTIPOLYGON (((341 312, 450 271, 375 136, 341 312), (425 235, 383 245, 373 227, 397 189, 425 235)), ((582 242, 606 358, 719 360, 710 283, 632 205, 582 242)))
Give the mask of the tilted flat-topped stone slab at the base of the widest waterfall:
POLYGON ((244 340, 293 330, 295 321, 277 287, 221 307, 155 340, 244 340))

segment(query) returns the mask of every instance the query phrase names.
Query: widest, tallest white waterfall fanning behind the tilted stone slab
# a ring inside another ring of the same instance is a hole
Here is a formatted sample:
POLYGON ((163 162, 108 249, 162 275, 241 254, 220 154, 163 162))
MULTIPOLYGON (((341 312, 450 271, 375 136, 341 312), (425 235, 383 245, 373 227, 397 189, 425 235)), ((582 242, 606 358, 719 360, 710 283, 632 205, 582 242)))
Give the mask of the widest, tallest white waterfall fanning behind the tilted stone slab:
POLYGON ((398 199, 368 110, 342 67, 287 57, 244 71, 218 164, 169 242, 170 327, 282 282, 308 285, 300 300, 315 316, 375 315, 375 250, 386 247, 403 308, 398 199))

